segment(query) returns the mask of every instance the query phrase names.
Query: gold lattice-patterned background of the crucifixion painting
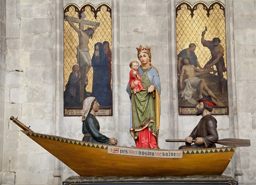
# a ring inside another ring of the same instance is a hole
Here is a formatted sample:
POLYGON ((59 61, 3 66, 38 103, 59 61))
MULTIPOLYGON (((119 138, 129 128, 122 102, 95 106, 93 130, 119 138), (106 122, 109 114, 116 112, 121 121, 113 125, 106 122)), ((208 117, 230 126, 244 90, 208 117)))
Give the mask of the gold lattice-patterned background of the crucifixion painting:
MULTIPOLYGON (((90 4, 90 3, 85 3, 84 5, 86 4, 90 4)), ((101 6, 102 4, 100 4, 99 6, 101 6)), ((67 6, 69 5, 70 4, 68 4, 67 6)), ((72 3, 72 5, 76 6, 80 10, 80 8, 76 4, 72 3)), ((92 4, 90 5, 93 6, 92 4)), ((64 9, 67 6, 65 6, 64 9)), ((93 22, 100 23, 100 26, 93 33, 93 38, 89 40, 89 49, 90 49, 91 58, 93 57, 94 44, 96 44, 97 42, 103 43, 105 40, 108 41, 110 44, 109 46, 110 50, 112 52, 112 32, 111 32, 110 12, 107 12, 107 8, 105 6, 102 6, 101 11, 97 12, 97 18, 95 19, 94 13, 91 12, 91 8, 89 6, 86 6, 84 10, 85 10, 84 14, 86 15, 85 20, 90 20, 93 22)), ((66 12, 65 15, 78 18, 78 13, 75 12, 75 8, 72 6, 69 8, 69 12, 66 12)), ((74 25, 79 28, 78 23, 74 23, 74 25)), ((84 29, 87 29, 89 27, 94 27, 94 26, 84 25, 84 29)), ((72 72, 72 66, 77 64, 76 47, 78 45, 79 45, 79 38, 78 38, 77 32, 69 25, 67 21, 64 21, 64 90, 65 90, 65 86, 67 84, 69 75, 72 72)), ((112 66, 112 61, 111 61, 111 66, 112 66)), ((93 68, 90 69, 87 76, 88 76, 88 85, 86 87, 86 90, 87 92, 92 92, 93 68)), ((112 88, 112 70, 111 70, 111 88, 112 88)))

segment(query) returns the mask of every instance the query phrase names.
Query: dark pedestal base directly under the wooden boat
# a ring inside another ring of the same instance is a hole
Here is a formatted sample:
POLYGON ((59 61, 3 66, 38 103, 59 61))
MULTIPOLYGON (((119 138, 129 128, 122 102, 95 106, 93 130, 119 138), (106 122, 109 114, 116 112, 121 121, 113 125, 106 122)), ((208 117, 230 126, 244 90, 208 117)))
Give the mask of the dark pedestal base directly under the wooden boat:
POLYGON ((185 176, 185 177, 85 177, 70 176, 62 185, 238 185, 230 176, 185 176))

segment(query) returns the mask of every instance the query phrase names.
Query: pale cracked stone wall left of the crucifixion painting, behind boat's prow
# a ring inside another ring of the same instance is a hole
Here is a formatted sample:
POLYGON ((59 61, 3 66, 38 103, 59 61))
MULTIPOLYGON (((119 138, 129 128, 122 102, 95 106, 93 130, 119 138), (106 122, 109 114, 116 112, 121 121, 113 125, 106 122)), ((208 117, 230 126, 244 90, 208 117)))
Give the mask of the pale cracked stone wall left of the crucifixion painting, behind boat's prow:
POLYGON ((54 156, 21 133, 55 130, 55 0, 6 1, 4 184, 52 184, 54 156))

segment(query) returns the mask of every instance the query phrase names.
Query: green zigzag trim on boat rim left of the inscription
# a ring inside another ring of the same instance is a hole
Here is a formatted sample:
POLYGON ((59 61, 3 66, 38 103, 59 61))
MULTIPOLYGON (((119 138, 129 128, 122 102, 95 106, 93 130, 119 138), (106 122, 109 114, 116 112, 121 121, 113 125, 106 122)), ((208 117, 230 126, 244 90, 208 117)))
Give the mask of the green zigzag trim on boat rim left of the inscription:
POLYGON ((64 143, 69 143, 73 145, 81 145, 85 147, 93 147, 93 148, 101 148, 101 149, 108 149, 108 145, 100 145, 97 143, 88 143, 88 142, 82 142, 82 141, 77 141, 77 140, 72 140, 72 139, 64 139, 61 137, 56 137, 56 136, 49 136, 49 135, 44 135, 44 134, 39 134, 39 133, 25 133, 27 136, 32 136, 32 137, 40 137, 43 139, 49 139, 57 142, 64 142, 64 143))

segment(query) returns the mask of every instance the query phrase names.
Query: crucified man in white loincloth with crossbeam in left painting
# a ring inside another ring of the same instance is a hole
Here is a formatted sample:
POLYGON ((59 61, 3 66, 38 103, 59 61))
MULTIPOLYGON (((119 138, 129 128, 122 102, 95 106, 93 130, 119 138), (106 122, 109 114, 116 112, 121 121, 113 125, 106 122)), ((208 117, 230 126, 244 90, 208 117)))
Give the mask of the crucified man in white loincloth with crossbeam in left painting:
MULTIPOLYGON (((82 18, 85 18, 84 14, 82 18)), ((92 66, 89 46, 88 46, 89 39, 93 38, 93 33, 96 30, 96 28, 99 27, 99 23, 89 21, 89 20, 84 20, 84 19, 78 19, 75 17, 69 17, 69 16, 65 16, 65 19, 70 24, 70 26, 78 33, 79 46, 77 46, 76 48, 77 49, 76 59, 77 59, 77 64, 80 67, 81 78, 86 78, 86 75, 92 66), (73 24, 73 22, 79 23, 79 28, 76 27, 73 24), (84 24, 91 25, 94 27, 84 30, 84 24)))

